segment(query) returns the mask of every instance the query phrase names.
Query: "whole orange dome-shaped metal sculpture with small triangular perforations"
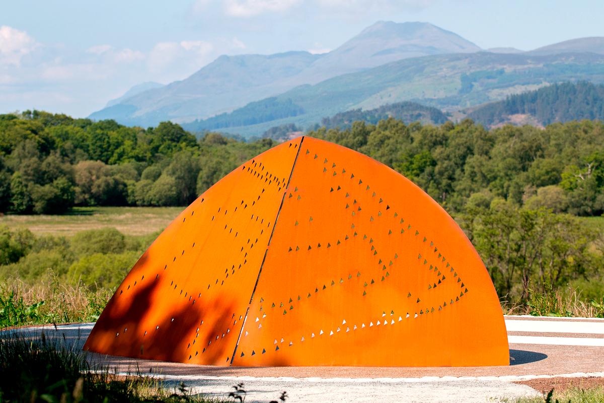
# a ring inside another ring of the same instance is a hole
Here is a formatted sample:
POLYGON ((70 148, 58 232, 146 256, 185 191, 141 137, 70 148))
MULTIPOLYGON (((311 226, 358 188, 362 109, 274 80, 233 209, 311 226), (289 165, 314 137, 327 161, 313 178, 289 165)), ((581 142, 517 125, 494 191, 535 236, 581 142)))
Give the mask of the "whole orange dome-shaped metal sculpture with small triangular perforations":
POLYGON ((84 348, 222 366, 509 364, 495 289, 453 219, 383 164, 309 137, 187 207, 84 348))

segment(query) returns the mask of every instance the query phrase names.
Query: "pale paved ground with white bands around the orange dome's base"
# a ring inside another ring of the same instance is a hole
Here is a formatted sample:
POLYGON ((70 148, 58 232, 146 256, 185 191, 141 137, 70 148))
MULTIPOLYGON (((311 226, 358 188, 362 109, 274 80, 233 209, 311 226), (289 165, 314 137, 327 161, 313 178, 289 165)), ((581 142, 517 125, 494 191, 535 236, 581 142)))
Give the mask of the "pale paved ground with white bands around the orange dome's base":
MULTIPOLYGON (((81 346, 94 324, 44 327, 81 346)), ((138 367, 169 385, 184 381, 195 392, 224 396, 244 382, 247 402, 485 402, 535 395, 513 381, 552 376, 604 376, 604 319, 507 316, 509 367, 212 367, 96 356, 118 372, 138 367)), ((39 332, 40 327, 23 329, 39 332)))

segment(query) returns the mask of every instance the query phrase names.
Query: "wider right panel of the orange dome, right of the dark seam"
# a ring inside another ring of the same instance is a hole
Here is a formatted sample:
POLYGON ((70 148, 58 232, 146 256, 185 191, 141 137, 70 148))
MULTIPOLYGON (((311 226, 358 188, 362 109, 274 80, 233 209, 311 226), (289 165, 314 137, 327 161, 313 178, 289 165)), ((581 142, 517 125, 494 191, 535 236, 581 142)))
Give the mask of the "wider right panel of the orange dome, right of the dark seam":
POLYGON ((453 219, 367 156, 304 138, 237 366, 508 365, 493 284, 453 219))

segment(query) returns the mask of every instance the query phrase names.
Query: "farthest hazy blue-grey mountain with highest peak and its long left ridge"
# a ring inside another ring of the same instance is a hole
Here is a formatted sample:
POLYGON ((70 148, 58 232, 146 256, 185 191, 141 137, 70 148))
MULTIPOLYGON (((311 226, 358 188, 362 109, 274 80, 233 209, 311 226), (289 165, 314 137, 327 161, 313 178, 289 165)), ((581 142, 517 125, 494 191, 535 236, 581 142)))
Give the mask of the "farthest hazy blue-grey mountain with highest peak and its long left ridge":
POLYGON ((300 85, 384 63, 479 50, 472 42, 432 24, 380 21, 329 53, 220 56, 185 80, 140 92, 90 117, 140 126, 153 126, 162 120, 205 119, 300 85))

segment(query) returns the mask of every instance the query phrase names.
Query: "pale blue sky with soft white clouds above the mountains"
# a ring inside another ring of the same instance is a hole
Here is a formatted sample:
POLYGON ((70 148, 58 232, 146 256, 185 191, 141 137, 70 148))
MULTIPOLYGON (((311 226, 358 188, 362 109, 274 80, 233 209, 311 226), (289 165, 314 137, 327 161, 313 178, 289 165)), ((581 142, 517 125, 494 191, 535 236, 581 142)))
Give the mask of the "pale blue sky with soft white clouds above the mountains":
POLYGON ((86 117, 222 54, 325 53, 377 21, 429 22, 483 49, 604 36, 601 0, 21 0, 0 15, 0 114, 86 117))

